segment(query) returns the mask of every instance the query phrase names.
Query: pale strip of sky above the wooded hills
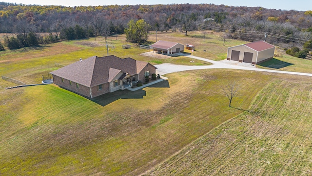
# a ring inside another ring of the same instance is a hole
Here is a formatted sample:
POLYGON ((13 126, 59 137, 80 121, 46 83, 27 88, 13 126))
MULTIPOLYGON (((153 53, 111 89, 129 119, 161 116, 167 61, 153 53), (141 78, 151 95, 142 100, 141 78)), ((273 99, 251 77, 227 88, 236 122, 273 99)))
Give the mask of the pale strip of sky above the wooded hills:
POLYGON ((264 7, 276 10, 312 10, 312 0, 0 0, 17 4, 97 6, 97 5, 136 5, 136 4, 173 4, 173 3, 212 3, 215 5, 264 7))

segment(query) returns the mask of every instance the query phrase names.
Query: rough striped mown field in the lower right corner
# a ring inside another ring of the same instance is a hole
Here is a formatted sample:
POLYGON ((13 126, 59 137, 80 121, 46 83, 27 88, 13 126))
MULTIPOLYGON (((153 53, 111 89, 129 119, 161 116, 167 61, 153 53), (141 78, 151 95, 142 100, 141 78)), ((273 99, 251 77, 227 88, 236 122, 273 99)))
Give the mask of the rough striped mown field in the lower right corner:
POLYGON ((312 175, 311 108, 311 78, 273 81, 249 109, 144 175, 312 175))

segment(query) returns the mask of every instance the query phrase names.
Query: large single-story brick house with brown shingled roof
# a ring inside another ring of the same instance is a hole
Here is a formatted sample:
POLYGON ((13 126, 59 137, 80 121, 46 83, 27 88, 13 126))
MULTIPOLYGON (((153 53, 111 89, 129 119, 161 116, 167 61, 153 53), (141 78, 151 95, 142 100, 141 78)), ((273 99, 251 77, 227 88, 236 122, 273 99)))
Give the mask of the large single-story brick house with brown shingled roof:
POLYGON ((114 55, 80 59, 51 72, 54 84, 88 98, 131 87, 153 73, 156 67, 150 63, 114 55))

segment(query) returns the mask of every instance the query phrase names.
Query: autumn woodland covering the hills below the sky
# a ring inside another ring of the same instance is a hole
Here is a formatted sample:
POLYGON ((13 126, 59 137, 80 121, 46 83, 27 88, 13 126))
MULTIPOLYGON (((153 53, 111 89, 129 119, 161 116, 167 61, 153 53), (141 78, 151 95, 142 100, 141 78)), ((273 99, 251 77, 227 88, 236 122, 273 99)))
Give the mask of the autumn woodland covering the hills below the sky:
MULTIPOLYGON (((0 2, 0 33, 15 33, 20 43, 31 38, 28 34, 39 32, 56 33, 46 39, 41 37, 39 44, 58 38, 104 39, 124 33, 131 20, 144 20, 149 30, 180 31, 187 35, 187 31, 212 29, 224 31, 234 39, 266 40, 283 48, 312 48, 312 11, 188 3, 65 7, 0 2)), ((32 44, 29 43, 20 45, 32 44)))

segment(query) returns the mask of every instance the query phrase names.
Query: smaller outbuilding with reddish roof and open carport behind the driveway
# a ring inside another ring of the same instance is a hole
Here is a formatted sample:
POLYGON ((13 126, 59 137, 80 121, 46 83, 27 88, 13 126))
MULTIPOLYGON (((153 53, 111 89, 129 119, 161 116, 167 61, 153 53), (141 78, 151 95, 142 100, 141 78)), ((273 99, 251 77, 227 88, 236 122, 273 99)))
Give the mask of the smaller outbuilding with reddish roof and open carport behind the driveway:
POLYGON ((176 42, 158 41, 149 47, 153 49, 153 52, 166 55, 184 51, 184 45, 176 42))

